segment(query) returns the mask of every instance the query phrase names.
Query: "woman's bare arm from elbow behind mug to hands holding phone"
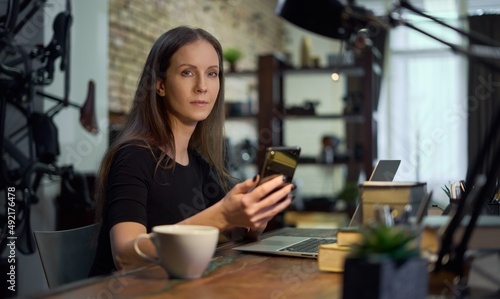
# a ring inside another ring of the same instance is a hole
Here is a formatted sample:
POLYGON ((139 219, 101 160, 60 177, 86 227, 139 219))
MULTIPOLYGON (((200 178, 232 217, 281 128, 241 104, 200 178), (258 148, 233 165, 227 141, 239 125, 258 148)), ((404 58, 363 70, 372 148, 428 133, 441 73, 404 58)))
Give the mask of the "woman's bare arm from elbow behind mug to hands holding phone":
MULTIPOLYGON (((279 188, 283 185, 282 176, 260 186, 256 185, 257 180, 252 179, 235 185, 222 200, 179 224, 211 225, 220 231, 248 228, 246 237, 258 237, 267 222, 291 203, 288 195, 293 185, 287 184, 279 188), (276 188, 279 189, 273 192, 276 188)), ((111 249, 118 270, 133 269, 150 263, 134 250, 134 240, 142 233, 146 233, 146 227, 136 222, 121 222, 111 228, 111 249)), ((151 240, 140 240, 139 247, 148 256, 157 256, 151 240)))

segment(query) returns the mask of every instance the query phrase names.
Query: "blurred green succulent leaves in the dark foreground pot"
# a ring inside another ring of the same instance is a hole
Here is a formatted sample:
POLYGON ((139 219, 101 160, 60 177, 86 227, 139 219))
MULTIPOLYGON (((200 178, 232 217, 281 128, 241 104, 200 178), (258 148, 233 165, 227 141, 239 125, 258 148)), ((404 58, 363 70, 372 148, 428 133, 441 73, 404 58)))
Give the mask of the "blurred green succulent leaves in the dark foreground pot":
POLYGON ((418 232, 404 226, 373 224, 361 229, 362 242, 351 247, 350 257, 369 261, 404 261, 420 256, 418 232))

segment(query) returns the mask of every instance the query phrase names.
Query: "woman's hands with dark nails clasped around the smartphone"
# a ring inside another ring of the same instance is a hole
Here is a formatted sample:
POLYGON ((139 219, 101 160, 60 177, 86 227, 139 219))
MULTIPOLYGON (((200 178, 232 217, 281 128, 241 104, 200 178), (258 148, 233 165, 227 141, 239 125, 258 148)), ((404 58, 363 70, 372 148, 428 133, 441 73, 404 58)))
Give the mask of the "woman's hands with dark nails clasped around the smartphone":
POLYGON ((258 181, 255 177, 236 184, 222 199, 222 212, 231 227, 263 230, 292 202, 293 184, 284 184, 284 176, 257 186, 258 181))

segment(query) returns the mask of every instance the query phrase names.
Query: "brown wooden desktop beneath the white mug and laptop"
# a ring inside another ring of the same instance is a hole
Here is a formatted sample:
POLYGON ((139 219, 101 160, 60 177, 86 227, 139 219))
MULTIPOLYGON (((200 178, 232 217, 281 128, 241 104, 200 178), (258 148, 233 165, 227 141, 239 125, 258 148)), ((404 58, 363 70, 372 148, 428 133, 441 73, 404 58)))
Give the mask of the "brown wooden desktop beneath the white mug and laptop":
MULTIPOLYGON (((284 228, 266 236, 278 233, 330 237, 335 230, 284 228)), ((168 279, 155 265, 69 284, 41 298, 342 297, 342 274, 319 271, 316 259, 248 254, 232 250, 234 246, 219 247, 199 279, 168 279)))

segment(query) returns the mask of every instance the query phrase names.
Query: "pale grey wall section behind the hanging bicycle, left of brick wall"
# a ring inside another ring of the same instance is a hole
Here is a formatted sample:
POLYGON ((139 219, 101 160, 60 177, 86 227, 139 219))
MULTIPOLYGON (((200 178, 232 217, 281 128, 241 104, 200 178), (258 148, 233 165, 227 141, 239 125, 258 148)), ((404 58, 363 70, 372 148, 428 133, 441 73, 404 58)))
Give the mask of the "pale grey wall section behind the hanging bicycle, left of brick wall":
MULTIPOLYGON (((65 1, 51 0, 64 8, 65 1)), ((71 101, 83 104, 89 80, 95 82, 96 116, 99 133, 92 135, 79 124, 78 109, 63 110, 55 118, 59 128, 60 164, 73 164, 81 172, 95 172, 108 140, 108 5, 107 1, 72 1, 71 101)), ((48 24, 51 24, 50 20, 48 24)), ((46 36, 50 38, 52 26, 46 36)), ((46 91, 62 94, 63 76, 46 91)))

